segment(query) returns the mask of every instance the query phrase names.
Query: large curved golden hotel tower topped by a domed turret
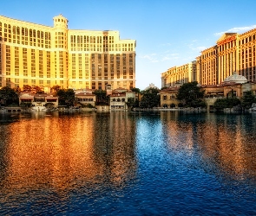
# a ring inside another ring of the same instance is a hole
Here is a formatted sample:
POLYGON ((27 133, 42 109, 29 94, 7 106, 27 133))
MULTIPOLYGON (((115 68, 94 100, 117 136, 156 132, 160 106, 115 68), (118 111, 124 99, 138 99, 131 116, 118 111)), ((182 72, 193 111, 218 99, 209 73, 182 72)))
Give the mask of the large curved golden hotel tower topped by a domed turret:
POLYGON ((62 15, 53 20, 52 28, 0 16, 0 87, 135 87, 135 40, 68 29, 62 15))

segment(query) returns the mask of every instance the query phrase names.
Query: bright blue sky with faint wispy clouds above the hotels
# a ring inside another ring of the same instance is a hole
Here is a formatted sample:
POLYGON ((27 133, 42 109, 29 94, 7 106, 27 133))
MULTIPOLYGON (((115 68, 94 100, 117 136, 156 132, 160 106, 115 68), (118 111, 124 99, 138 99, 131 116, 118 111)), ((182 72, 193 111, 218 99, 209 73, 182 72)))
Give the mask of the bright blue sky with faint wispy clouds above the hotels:
POLYGON ((0 15, 53 26, 62 14, 69 29, 118 30, 136 40, 136 87, 161 88, 161 73, 195 60, 225 32, 256 28, 255 0, 9 0, 0 15))

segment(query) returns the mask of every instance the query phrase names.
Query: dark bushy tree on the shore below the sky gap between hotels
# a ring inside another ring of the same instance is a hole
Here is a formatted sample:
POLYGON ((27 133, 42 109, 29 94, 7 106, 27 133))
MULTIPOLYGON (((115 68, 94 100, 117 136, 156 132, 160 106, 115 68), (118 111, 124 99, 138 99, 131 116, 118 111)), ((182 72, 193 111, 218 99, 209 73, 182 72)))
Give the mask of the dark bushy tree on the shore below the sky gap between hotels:
POLYGON ((148 88, 141 92, 141 108, 153 108, 160 106, 160 94, 157 88, 148 88))

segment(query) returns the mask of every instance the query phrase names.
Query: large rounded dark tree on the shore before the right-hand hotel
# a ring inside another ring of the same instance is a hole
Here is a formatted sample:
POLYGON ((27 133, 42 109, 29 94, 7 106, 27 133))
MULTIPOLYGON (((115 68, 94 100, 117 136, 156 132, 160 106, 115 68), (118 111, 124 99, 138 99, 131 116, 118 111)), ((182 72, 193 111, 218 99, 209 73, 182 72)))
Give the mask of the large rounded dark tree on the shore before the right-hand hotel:
POLYGON ((176 98, 183 104, 185 107, 205 107, 206 103, 203 101, 204 90, 201 90, 198 86, 198 82, 189 82, 183 84, 176 98))

